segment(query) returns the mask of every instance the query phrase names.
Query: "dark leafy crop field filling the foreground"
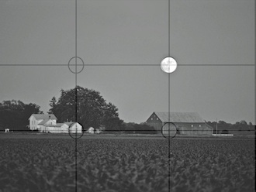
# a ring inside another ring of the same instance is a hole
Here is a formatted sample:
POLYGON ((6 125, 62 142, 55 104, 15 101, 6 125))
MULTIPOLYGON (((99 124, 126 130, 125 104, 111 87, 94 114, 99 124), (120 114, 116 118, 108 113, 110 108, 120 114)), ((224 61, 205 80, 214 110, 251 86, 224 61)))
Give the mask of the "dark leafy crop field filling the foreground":
MULTIPOLYGON (((0 138, 0 191, 75 191, 74 139, 0 138)), ((254 139, 171 140, 171 191, 255 191, 254 139)), ((78 140, 77 191, 168 191, 167 139, 78 140)))

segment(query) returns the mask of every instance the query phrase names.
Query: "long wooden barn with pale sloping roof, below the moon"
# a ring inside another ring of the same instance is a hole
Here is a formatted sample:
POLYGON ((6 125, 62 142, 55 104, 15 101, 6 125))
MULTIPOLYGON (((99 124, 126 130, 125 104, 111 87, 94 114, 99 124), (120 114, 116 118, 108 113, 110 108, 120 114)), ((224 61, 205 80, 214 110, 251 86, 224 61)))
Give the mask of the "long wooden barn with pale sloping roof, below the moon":
POLYGON ((161 132, 166 122, 174 123, 181 135, 212 135, 213 132, 197 112, 153 112, 146 123, 161 132))

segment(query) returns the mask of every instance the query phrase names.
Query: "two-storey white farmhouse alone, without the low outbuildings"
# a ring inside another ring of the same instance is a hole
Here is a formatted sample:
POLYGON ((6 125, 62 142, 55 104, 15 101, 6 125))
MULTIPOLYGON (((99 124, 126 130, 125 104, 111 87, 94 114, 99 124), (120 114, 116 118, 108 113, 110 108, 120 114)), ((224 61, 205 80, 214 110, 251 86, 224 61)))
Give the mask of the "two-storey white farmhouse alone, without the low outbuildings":
POLYGON ((48 125, 48 124, 51 124, 51 125, 57 124, 57 118, 54 114, 32 114, 29 117, 30 130, 36 130, 36 129, 40 130, 40 129, 43 129, 44 125, 48 125))

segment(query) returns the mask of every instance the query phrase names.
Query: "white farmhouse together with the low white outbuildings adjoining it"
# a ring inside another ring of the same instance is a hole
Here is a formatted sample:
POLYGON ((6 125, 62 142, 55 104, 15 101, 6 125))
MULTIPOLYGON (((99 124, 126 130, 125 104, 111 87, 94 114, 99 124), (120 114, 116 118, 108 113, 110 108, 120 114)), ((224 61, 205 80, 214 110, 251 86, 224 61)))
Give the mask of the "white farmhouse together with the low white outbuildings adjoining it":
POLYGON ((29 117, 30 130, 52 133, 81 133, 82 126, 78 122, 57 123, 57 118, 53 114, 32 114, 29 117))

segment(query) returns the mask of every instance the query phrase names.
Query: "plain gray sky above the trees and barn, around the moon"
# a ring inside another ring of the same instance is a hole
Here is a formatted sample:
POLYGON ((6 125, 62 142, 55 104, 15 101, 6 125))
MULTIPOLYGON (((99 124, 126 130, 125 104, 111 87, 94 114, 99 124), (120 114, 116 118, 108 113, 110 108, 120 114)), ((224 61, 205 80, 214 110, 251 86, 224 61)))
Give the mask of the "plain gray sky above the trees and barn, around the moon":
MULTIPOLYGON (((171 74, 171 111, 255 122, 254 7, 254 0, 171 0, 171 56, 185 65, 171 74)), ((33 102, 46 113, 61 88, 74 87, 74 74, 22 65, 65 65, 74 46, 74 1, 0 0, 0 100, 33 102), (20 66, 3 66, 12 64, 20 66)), ((168 0, 78 0, 78 57, 106 64, 85 67, 78 85, 99 91, 125 122, 168 111, 160 68, 167 56, 168 0), (156 66, 140 66, 147 64, 156 66)))

